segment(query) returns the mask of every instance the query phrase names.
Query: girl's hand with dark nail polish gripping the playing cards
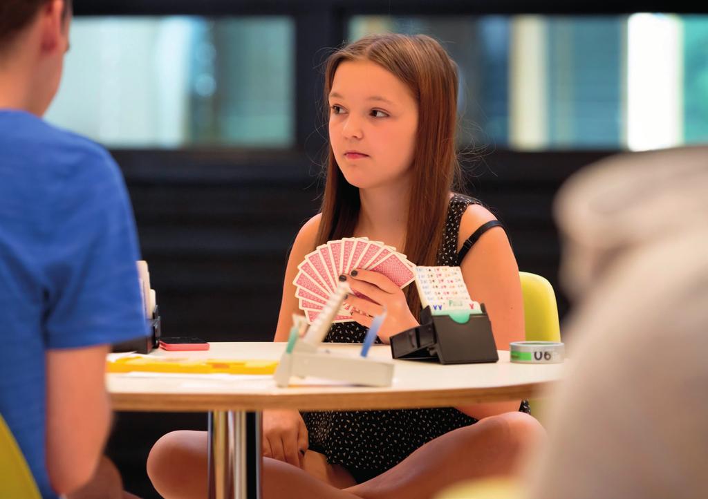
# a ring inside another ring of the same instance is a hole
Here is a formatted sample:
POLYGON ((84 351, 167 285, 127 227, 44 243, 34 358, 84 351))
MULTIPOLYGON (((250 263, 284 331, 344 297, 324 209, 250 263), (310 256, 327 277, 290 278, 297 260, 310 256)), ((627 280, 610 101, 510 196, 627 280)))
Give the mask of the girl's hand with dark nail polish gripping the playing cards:
POLYGON ((362 326, 370 327, 373 316, 381 314, 386 306, 386 320, 379 329, 379 338, 384 343, 389 343, 389 338, 394 334, 418 326, 418 321, 411 314, 403 290, 385 275, 371 270, 356 269, 347 276, 347 282, 352 291, 371 299, 370 302, 349 294, 345 300, 345 303, 353 308, 353 319, 362 326))

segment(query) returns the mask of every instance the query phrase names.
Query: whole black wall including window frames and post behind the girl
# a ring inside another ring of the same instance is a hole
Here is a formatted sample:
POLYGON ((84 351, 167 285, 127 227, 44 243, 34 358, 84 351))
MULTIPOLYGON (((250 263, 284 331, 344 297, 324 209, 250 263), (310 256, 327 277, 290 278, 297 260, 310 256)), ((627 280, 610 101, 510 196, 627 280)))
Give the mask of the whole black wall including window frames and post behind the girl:
MULTIPOLYGON (((204 16, 287 14, 296 21, 295 146, 288 151, 113 150, 127 181, 144 258, 149 262, 166 335, 210 341, 272 339, 287 251, 319 205, 317 159, 323 146, 315 103, 323 47, 340 45, 348 16, 383 14, 629 13, 690 11, 687 2, 617 1, 75 1, 76 15, 204 16)), ((506 224, 521 270, 557 286, 559 241, 552 200, 573 172, 617 151, 518 152, 490 149, 464 167, 467 191, 506 224)), ((127 490, 157 497, 145 461, 173 429, 206 429, 203 413, 118 413, 108 454, 127 490)))

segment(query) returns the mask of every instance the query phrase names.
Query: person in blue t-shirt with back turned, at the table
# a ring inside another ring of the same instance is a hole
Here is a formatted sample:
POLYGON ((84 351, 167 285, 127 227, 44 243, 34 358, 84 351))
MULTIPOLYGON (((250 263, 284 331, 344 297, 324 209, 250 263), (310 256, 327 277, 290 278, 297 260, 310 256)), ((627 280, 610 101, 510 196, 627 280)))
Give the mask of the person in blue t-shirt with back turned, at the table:
POLYGON ((71 17, 0 2, 0 414, 42 497, 131 497, 101 454, 108 345, 147 333, 135 222, 108 152, 42 120, 71 17))

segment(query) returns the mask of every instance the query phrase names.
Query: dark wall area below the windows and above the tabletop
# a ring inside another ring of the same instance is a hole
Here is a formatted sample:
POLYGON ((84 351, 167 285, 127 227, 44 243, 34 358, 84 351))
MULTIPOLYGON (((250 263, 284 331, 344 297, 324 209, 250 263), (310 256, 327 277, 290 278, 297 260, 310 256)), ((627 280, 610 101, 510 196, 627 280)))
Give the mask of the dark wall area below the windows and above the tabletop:
MULTIPOLYGON (((607 154, 493 151, 464 164, 465 190, 504 222, 520 269, 556 283, 554 193, 607 154)), ((319 207, 319 166, 265 155, 246 165, 223 153, 113 155, 130 190, 164 334, 271 340, 288 248, 319 207)))

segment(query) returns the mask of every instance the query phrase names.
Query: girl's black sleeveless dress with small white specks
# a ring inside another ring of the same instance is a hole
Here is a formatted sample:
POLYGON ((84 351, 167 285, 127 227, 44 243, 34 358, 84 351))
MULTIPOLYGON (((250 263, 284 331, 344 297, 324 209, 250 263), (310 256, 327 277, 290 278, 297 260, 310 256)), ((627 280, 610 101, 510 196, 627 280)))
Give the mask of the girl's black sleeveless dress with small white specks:
MULTIPOLYGON (((457 194, 451 198, 438 265, 459 265, 459 222, 472 204, 479 201, 457 194)), ((366 328, 358 323, 335 323, 324 340, 362 343, 365 333, 366 328)), ((381 343, 378 338, 377 343, 381 343)), ((519 410, 528 413, 528 403, 523 401, 519 410)), ((358 483, 396 466, 426 442, 477 422, 452 407, 308 412, 302 417, 309 448, 324 454, 330 464, 348 469, 358 483)))

